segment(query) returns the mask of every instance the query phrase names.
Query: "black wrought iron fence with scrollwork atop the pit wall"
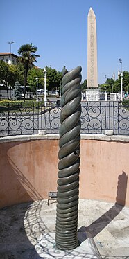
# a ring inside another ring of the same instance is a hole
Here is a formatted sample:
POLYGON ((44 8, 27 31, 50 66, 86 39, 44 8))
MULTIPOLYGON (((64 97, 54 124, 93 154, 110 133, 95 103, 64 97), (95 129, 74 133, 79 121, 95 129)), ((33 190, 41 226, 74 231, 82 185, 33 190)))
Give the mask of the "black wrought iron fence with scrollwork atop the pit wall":
MULTIPOLYGON (((18 134, 38 134, 38 130, 46 129, 48 134, 59 134, 60 102, 42 102, 0 107, 0 136, 18 134)), ((81 103, 81 134, 105 134, 112 129, 114 134, 129 134, 129 107, 119 102, 99 101, 81 103)))

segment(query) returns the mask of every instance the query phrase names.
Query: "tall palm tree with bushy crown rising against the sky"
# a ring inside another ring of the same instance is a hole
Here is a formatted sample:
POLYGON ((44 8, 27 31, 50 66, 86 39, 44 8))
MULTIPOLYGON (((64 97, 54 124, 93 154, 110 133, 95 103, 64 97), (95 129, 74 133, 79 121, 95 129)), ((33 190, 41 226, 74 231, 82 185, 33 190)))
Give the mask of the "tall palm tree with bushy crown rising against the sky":
POLYGON ((33 66, 33 62, 37 62, 36 58, 40 57, 39 55, 35 55, 34 53, 37 51, 37 47, 31 44, 22 45, 19 50, 19 62, 24 66, 24 102, 25 102, 25 93, 26 93, 26 84, 27 84, 27 76, 28 69, 33 66))

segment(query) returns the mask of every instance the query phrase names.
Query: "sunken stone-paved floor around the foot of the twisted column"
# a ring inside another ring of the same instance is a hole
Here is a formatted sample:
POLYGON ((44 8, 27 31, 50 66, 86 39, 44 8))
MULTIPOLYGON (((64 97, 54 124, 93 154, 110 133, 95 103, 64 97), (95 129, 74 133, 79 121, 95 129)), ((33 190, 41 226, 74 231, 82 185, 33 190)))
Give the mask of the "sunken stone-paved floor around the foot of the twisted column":
POLYGON ((55 210, 46 200, 2 208, 0 259, 129 259, 129 208, 80 199, 81 244, 72 251, 55 247, 55 210))

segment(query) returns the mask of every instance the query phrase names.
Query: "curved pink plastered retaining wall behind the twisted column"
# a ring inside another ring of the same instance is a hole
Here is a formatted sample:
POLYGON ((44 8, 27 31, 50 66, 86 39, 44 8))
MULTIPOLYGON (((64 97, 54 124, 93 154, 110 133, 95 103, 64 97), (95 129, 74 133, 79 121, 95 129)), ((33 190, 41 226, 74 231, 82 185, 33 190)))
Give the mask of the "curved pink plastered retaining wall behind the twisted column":
MULTIPOLYGON (((129 206, 129 142, 81 139, 80 199, 129 206)), ((0 143, 0 207, 56 191, 58 139, 0 143)))

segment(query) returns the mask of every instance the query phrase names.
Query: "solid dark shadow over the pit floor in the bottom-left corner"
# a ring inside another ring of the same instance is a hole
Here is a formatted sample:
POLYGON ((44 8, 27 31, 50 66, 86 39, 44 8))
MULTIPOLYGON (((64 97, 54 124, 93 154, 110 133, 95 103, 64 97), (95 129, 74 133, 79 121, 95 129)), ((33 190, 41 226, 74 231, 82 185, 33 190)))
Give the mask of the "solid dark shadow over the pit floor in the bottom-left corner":
MULTIPOLYGON (((35 247, 28 240, 24 220, 31 202, 8 206, 0 210, 0 258, 32 258, 35 247)), ((36 258, 40 259, 37 254, 36 258)))

